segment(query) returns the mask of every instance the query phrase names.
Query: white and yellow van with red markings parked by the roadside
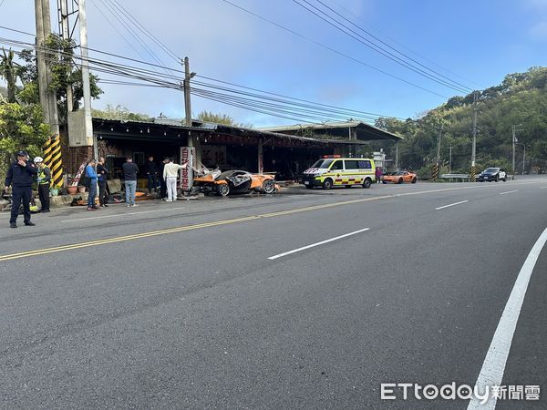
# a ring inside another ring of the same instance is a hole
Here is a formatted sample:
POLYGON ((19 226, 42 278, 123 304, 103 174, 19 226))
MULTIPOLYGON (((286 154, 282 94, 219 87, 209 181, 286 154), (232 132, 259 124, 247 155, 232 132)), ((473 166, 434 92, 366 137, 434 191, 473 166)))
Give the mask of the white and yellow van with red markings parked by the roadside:
POLYGON ((304 170, 302 183, 305 188, 323 187, 330 190, 333 187, 352 187, 361 185, 370 188, 376 180, 374 159, 340 158, 338 155, 325 155, 311 168, 304 170))

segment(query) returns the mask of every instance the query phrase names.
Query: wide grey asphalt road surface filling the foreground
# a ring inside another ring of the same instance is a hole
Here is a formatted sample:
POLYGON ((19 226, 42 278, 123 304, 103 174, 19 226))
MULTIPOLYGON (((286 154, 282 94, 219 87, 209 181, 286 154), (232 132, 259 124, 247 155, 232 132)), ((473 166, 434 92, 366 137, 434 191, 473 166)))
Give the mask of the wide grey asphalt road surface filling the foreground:
MULTIPOLYGON (((53 210, 17 230, 1 213, 0 406, 466 408, 380 385, 475 384, 546 201, 537 177, 53 210)), ((547 249, 503 375, 540 401, 498 408, 547 407, 545 294, 547 249)))

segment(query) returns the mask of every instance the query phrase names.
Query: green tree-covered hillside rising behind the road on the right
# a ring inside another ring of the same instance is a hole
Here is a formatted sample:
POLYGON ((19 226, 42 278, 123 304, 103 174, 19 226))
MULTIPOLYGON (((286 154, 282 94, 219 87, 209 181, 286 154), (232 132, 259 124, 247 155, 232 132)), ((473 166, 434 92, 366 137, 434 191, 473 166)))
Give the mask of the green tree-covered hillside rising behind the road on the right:
MULTIPOLYGON (((527 173, 547 168, 547 67, 532 67, 525 73, 506 76, 501 84, 479 91, 477 166, 501 166, 511 170, 512 127, 516 126, 516 170, 522 172, 524 146, 527 173)), ((399 143, 399 168, 416 169, 427 177, 437 157, 437 139, 441 130, 441 172, 449 167, 452 147, 452 171, 470 171, 473 127, 473 93, 451 97, 421 118, 406 121, 379 118, 377 127, 404 137, 399 143)), ((375 148, 379 148, 380 145, 375 148)), ((387 148, 390 158, 395 147, 387 148)))

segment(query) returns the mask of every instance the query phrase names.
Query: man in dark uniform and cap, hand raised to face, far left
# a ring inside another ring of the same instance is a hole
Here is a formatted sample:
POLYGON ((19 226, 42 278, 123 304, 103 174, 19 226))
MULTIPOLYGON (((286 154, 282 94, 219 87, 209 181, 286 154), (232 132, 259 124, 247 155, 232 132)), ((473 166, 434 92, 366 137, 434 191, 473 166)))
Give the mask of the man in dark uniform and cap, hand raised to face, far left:
POLYGON ((10 228, 17 228, 17 216, 21 201, 23 201, 23 220, 26 226, 35 226, 30 221, 30 200, 32 197, 32 181, 38 169, 28 162, 25 151, 17 152, 17 160, 7 169, 5 175, 5 190, 12 187, 12 209, 9 220, 10 228))

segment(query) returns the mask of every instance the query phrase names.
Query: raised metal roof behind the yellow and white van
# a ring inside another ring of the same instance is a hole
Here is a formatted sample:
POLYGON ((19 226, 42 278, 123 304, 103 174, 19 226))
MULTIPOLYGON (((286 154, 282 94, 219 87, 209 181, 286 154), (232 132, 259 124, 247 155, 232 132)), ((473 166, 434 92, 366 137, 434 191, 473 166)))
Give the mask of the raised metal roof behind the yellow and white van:
POLYGON ((295 124, 289 126, 279 127, 266 127, 258 128, 263 131, 270 131, 275 133, 304 133, 306 130, 313 130, 315 136, 325 135, 329 137, 341 137, 349 139, 348 129, 354 129, 356 131, 356 138, 361 141, 375 141, 375 140, 394 140, 400 141, 402 137, 387 132, 384 129, 374 127, 366 122, 362 121, 333 121, 325 122, 321 124, 295 124), (321 132, 323 131, 323 132, 321 132))

